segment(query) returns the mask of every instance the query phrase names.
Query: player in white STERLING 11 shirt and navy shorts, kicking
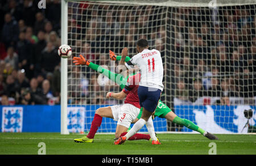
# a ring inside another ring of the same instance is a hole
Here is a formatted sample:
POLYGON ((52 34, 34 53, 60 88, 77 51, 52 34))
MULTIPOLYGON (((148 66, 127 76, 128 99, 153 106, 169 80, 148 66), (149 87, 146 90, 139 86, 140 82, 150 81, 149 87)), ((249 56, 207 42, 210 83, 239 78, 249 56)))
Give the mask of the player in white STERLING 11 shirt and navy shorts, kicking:
POLYGON ((133 58, 125 63, 127 48, 122 50, 120 65, 128 69, 137 65, 141 72, 141 79, 138 87, 139 103, 142 110, 141 118, 134 124, 131 130, 123 137, 119 137, 114 144, 122 144, 131 136, 136 134, 148 121, 148 118, 155 112, 161 92, 163 91, 163 62, 158 50, 148 50, 147 40, 141 39, 137 42, 137 52, 133 58))

